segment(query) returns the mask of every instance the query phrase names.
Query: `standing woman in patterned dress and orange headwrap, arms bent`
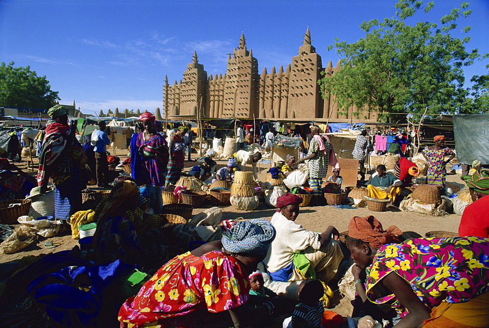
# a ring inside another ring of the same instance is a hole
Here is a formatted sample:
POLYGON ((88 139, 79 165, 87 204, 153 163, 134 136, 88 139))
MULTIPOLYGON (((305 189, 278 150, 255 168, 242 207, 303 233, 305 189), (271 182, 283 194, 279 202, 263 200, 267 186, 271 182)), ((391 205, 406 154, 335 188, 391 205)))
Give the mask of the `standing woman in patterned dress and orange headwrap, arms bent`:
POLYGON ((423 150, 423 156, 428 162, 427 184, 443 186, 445 189, 445 165, 455 157, 455 153, 450 148, 445 147, 445 136, 435 136, 433 141, 435 142, 433 146, 423 150), (450 158, 445 161, 447 155, 450 155, 450 158))

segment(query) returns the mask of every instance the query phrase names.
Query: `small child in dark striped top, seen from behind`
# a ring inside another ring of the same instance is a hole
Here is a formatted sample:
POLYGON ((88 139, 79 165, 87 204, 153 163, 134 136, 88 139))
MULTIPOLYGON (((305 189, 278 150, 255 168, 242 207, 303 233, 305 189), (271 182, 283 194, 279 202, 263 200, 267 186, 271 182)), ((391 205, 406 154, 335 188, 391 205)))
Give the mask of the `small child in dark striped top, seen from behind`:
POLYGON ((299 285, 299 304, 292 312, 292 316, 284 320, 283 328, 321 328, 321 319, 324 314, 323 284, 317 279, 306 279, 299 285))

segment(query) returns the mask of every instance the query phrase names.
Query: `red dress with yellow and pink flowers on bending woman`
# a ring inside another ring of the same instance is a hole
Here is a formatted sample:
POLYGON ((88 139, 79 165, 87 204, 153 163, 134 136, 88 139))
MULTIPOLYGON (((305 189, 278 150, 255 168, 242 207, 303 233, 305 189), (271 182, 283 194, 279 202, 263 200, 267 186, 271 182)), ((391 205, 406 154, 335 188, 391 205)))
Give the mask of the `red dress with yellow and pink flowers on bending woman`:
POLYGON ((162 266, 129 298, 118 319, 121 327, 191 326, 188 314, 236 308, 248 295, 248 273, 234 257, 220 251, 200 257, 187 252, 162 266))

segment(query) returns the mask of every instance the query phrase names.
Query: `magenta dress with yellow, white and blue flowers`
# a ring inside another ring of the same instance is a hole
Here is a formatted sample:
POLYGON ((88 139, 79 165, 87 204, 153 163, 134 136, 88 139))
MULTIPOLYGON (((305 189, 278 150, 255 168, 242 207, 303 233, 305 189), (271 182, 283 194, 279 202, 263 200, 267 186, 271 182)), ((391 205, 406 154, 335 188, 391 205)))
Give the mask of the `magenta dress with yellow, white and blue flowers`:
POLYGON ((489 290, 489 238, 420 238, 382 246, 367 268, 367 297, 390 305, 402 318, 408 311, 394 294, 376 295, 377 283, 392 272, 411 284, 428 308, 467 302, 489 290))

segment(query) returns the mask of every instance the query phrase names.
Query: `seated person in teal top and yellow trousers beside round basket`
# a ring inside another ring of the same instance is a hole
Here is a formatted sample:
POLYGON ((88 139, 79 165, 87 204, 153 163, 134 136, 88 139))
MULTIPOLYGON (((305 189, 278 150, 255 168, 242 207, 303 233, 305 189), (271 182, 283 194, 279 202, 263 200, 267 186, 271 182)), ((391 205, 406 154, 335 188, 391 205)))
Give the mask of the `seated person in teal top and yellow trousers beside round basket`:
POLYGON ((394 202, 396 196, 400 194, 402 182, 391 174, 387 174, 385 165, 377 166, 377 174, 374 174, 367 183, 368 197, 371 198, 391 198, 394 202))

